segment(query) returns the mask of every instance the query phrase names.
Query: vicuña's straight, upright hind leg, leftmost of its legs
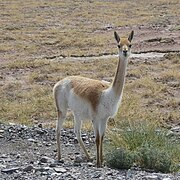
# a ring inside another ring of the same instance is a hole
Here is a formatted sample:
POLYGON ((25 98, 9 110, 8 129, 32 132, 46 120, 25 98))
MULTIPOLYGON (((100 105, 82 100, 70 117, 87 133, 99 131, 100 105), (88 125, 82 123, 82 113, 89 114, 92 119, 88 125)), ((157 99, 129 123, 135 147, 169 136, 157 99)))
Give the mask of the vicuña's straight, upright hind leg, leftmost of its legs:
POLYGON ((66 118, 66 112, 62 113, 61 111, 58 111, 58 120, 57 120, 57 125, 56 125, 56 138, 57 138, 57 155, 58 155, 58 160, 61 159, 61 145, 60 145, 60 140, 61 140, 61 129, 62 125, 64 122, 64 119, 66 118))

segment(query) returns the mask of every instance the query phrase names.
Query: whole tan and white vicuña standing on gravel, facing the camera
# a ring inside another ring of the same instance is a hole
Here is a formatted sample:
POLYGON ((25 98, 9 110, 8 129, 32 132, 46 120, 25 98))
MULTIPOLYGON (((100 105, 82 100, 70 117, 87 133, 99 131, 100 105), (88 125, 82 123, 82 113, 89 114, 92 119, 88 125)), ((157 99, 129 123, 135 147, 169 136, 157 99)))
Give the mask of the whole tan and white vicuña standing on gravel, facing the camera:
POLYGON ((114 32, 118 43, 119 62, 112 84, 80 76, 69 76, 55 84, 53 93, 58 112, 56 126, 58 160, 61 159, 61 128, 67 109, 71 109, 74 115, 74 131, 87 159, 90 159, 90 156, 81 138, 81 125, 83 120, 91 120, 95 133, 97 167, 102 166, 102 142, 106 124, 110 117, 116 115, 122 99, 127 59, 130 55, 133 35, 132 31, 129 37, 120 38, 114 32))

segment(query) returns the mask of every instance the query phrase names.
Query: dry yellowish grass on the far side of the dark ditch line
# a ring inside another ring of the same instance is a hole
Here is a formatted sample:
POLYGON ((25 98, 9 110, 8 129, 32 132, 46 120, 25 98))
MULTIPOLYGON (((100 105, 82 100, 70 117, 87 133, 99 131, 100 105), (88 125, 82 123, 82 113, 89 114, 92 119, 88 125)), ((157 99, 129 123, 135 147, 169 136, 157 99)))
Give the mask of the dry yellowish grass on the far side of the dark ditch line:
POLYGON ((172 21, 170 29, 178 31, 178 6, 178 0, 0 0, 1 61, 115 53, 114 29, 158 29, 172 21))

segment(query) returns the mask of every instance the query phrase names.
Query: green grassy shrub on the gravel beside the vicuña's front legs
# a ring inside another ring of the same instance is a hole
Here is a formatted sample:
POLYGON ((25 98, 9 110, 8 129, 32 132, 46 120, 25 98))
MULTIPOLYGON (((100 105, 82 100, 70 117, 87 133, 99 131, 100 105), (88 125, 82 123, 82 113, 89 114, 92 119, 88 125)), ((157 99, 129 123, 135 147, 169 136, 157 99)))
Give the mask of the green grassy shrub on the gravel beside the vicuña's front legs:
POLYGON ((167 130, 152 122, 126 121, 118 127, 110 132, 109 167, 128 169, 136 164, 163 173, 179 170, 180 144, 169 139, 167 130))

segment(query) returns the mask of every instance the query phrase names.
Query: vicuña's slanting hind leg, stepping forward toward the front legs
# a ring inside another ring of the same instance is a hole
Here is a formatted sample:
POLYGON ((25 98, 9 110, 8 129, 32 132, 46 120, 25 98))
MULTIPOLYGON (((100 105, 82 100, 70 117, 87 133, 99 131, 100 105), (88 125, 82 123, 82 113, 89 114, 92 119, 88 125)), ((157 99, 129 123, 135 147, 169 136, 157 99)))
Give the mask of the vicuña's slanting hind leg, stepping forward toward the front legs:
POLYGON ((87 159, 90 160, 90 156, 89 156, 89 154, 88 154, 88 152, 87 152, 87 150, 86 150, 86 148, 84 146, 84 143, 82 141, 82 138, 81 138, 81 121, 78 120, 77 118, 75 118, 75 122, 74 123, 75 123, 74 131, 75 131, 77 140, 78 140, 78 142, 80 144, 80 147, 83 149, 87 159))

